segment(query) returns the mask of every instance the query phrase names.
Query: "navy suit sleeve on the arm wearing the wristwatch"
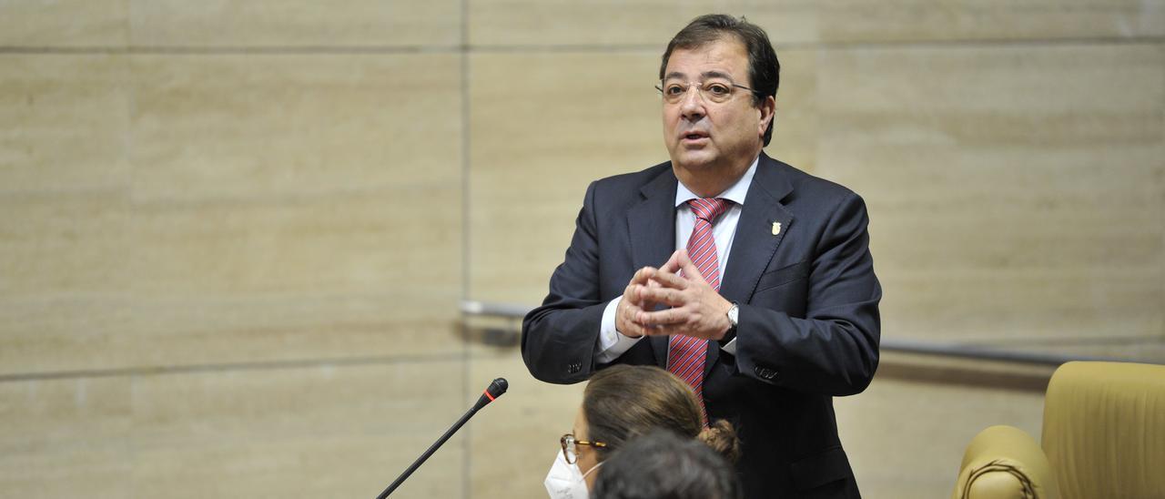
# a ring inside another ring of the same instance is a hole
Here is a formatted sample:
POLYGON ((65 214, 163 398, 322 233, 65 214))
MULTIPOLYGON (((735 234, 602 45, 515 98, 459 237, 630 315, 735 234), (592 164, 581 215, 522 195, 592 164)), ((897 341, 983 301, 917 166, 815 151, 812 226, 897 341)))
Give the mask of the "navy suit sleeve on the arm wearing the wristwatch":
POLYGON ((849 192, 814 248, 804 317, 740 304, 736 370, 762 382, 827 395, 860 393, 878 363, 882 288, 869 252, 869 218, 849 192))

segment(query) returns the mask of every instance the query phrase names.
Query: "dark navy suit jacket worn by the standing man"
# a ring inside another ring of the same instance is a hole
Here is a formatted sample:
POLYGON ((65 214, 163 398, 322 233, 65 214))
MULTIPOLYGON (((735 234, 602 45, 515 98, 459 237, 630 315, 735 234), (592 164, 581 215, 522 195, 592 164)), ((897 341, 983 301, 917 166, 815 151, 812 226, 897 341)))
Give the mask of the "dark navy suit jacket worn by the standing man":
MULTIPOLYGON (((573 384, 606 367, 594 360, 603 308, 676 250, 676 184, 669 162, 587 188, 550 294, 522 324, 535 378, 573 384)), ((833 396, 863 391, 878 363, 868 220, 853 191, 761 154, 721 279, 740 305, 736 353, 708 342, 704 377, 708 416, 741 440, 747 498, 859 497, 833 396)), ((650 337, 615 363, 664 367, 666 349, 650 337)))

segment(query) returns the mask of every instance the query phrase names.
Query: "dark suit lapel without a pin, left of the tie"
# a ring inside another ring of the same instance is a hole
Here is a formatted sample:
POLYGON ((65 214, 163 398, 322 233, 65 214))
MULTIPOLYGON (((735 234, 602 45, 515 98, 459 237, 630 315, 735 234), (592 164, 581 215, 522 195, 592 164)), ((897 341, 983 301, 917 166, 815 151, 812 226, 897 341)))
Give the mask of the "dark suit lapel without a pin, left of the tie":
MULTIPOLYGON (((648 182, 640 194, 643 199, 627 211, 630 230, 633 270, 643 267, 659 267, 676 251, 676 175, 671 168, 648 182)), ((655 352, 656 364, 668 366, 668 337, 648 338, 655 352)))

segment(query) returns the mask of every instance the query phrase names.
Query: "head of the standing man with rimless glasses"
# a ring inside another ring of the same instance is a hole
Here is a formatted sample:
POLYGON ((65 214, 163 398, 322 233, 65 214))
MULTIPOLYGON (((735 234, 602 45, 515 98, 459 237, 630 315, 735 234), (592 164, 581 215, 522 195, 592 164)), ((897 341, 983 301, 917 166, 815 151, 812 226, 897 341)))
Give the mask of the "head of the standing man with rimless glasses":
POLYGON ((772 138, 781 63, 758 26, 723 14, 696 17, 668 43, 659 80, 677 175, 742 174, 772 138))

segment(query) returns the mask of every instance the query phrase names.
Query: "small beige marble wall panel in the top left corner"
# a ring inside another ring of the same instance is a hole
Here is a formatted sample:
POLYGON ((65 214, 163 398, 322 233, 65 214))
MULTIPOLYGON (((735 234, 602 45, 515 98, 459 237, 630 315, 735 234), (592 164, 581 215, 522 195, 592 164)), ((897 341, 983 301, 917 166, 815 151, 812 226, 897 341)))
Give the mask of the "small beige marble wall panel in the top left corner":
POLYGON ((0 3, 0 47, 125 47, 128 7, 121 0, 6 0, 0 3))

